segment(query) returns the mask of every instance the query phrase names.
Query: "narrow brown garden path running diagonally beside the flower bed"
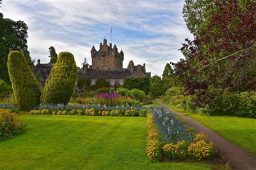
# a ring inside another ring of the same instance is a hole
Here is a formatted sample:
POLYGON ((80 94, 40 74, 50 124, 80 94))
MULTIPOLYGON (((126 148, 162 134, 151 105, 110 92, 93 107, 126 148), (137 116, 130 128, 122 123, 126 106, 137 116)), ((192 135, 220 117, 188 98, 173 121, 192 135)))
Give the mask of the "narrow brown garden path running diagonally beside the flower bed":
POLYGON ((172 112, 177 113, 181 117, 186 120, 189 126, 193 127, 196 132, 203 132, 209 141, 214 143, 214 146, 218 152, 221 153, 225 157, 226 160, 230 161, 232 169, 241 169, 241 170, 256 170, 256 157, 240 148, 239 146, 227 141, 227 139, 222 138, 220 135, 216 134, 215 132, 211 131, 204 125, 196 122, 193 118, 187 117, 184 114, 180 113, 179 111, 175 111, 172 108, 168 107, 166 104, 163 103, 160 99, 156 99, 157 103, 161 106, 165 106, 170 109, 172 112))

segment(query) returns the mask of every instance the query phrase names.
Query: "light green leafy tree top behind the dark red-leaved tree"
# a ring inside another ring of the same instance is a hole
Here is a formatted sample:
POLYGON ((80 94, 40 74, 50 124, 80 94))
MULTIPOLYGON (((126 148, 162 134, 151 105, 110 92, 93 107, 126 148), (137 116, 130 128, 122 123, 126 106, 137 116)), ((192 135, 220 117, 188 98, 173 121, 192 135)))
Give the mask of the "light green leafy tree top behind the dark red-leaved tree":
POLYGON ((191 33, 196 33, 198 27, 214 10, 216 0, 185 0, 183 18, 191 33))

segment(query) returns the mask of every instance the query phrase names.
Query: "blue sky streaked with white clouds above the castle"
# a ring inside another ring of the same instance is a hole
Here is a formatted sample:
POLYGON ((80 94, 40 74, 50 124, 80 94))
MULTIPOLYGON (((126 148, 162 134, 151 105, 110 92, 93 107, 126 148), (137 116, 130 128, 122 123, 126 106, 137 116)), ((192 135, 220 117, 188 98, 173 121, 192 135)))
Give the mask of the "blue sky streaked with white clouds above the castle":
POLYGON ((49 47, 73 53, 77 66, 84 57, 92 63, 90 49, 103 39, 124 52, 124 67, 146 64, 152 75, 161 75, 167 62, 182 58, 178 49, 193 38, 182 18, 182 0, 58 1, 3 0, 4 18, 28 25, 28 50, 32 59, 49 62, 49 47))

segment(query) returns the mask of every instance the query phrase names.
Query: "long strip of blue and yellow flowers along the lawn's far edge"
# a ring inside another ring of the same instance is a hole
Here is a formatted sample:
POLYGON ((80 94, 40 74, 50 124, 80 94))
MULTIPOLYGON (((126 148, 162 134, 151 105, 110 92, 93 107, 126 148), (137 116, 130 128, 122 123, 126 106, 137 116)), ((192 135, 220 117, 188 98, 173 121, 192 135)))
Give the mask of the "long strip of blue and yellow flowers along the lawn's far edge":
POLYGON ((32 115, 92 115, 146 117, 150 108, 139 106, 106 106, 93 104, 40 104, 30 111, 32 115))

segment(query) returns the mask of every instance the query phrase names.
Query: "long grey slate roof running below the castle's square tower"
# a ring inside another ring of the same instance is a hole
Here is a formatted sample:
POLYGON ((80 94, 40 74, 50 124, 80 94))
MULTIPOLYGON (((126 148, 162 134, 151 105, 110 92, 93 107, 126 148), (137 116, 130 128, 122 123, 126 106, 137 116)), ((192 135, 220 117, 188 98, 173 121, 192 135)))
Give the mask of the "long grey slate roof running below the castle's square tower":
POLYGON ((129 69, 86 69, 84 71, 79 70, 79 77, 88 79, 99 79, 99 78, 129 78, 132 76, 129 69))

